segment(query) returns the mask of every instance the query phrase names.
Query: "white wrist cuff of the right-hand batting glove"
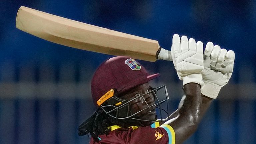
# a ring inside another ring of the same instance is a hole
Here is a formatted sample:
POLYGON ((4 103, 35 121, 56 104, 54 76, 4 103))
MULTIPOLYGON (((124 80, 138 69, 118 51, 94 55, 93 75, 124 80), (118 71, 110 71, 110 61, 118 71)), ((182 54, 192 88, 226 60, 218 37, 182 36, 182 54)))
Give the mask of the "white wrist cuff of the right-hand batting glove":
POLYGON ((204 82, 202 86, 202 94, 207 97, 216 99, 220 92, 221 87, 222 86, 216 85, 214 83, 204 82))

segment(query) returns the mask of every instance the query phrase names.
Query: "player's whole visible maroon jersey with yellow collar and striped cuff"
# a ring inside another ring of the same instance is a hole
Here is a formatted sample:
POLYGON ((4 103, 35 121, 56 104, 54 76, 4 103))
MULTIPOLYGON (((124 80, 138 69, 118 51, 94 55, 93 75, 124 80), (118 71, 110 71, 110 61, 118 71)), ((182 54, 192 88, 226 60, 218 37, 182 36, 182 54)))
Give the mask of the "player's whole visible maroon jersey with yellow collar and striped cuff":
POLYGON ((121 128, 117 125, 110 127, 108 135, 100 135, 99 142, 91 138, 90 144, 174 144, 175 133, 170 125, 159 122, 151 126, 136 127, 129 129, 121 128))

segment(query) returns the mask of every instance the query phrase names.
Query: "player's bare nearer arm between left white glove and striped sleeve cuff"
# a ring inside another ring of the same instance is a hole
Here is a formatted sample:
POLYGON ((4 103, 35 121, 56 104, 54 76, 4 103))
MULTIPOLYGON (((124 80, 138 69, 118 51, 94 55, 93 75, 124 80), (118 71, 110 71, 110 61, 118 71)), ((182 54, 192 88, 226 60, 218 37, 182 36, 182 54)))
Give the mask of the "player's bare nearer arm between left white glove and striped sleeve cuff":
POLYGON ((184 96, 180 101, 177 117, 165 123, 174 128, 176 143, 182 143, 196 131, 200 120, 201 103, 200 86, 195 83, 184 85, 184 96))

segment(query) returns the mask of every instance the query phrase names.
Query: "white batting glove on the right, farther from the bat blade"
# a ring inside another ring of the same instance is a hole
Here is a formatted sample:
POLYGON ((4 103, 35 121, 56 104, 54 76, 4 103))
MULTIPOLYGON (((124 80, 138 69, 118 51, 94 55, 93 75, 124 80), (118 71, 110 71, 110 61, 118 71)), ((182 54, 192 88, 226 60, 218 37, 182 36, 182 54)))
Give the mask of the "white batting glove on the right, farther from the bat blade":
POLYGON ((220 49, 208 42, 204 51, 204 70, 202 94, 216 99, 220 89, 226 85, 234 68, 235 53, 232 50, 220 49))

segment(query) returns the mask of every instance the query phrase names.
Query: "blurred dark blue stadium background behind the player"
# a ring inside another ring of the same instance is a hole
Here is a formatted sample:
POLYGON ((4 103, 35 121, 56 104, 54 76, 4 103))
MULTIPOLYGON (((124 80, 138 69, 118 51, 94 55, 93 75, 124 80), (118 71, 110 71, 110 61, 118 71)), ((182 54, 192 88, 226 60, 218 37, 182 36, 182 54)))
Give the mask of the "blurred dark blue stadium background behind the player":
MULTIPOLYGON (((90 79, 112 57, 57 45, 15 27, 20 6, 158 40, 172 35, 212 41, 236 53, 233 76, 198 131, 185 144, 256 143, 255 0, 1 0, 0 144, 82 144, 77 127, 95 107, 90 79)), ((161 73, 152 85, 167 85, 173 110, 182 96, 172 62, 140 61, 161 73)))

